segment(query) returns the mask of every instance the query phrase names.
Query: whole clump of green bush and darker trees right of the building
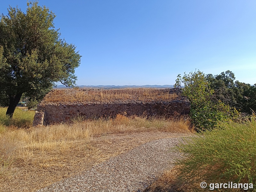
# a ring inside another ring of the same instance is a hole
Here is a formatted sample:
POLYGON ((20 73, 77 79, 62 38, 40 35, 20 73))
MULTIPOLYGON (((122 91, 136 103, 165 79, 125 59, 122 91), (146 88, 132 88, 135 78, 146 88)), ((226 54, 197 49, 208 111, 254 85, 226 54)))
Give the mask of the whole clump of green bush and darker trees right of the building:
POLYGON ((177 76, 175 87, 190 101, 190 118, 197 131, 213 129, 220 122, 252 115, 256 111, 256 84, 235 81, 232 71, 205 75, 201 71, 177 76))

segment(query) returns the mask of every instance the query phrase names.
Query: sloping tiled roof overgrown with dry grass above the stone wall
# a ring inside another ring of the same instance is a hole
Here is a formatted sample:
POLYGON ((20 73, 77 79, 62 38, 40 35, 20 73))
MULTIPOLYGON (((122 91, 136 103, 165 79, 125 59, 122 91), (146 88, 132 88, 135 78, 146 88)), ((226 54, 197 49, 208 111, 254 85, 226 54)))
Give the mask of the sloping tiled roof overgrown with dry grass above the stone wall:
POLYGON ((111 90, 90 90, 90 89, 55 89, 48 93, 43 103, 90 103, 90 102, 111 102, 115 100, 126 101, 154 101, 174 100, 176 93, 170 93, 170 89, 154 88, 131 88, 111 90))

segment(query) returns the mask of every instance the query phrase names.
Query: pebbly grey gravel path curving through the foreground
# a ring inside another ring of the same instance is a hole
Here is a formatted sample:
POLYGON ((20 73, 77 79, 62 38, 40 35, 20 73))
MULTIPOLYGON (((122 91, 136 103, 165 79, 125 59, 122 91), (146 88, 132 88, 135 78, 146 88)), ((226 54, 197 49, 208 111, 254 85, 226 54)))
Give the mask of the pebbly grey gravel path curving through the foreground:
POLYGON ((150 141, 38 192, 140 192, 156 180, 157 175, 173 166, 174 160, 180 155, 171 152, 170 148, 177 145, 180 140, 182 138, 150 141))

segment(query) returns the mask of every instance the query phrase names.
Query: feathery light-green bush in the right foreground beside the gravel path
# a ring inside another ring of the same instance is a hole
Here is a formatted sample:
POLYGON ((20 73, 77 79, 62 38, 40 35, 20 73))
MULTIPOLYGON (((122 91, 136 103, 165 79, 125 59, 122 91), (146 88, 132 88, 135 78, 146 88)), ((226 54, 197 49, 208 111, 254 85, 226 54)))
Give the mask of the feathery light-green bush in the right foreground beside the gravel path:
MULTIPOLYGON (((256 121, 226 123, 177 148, 182 180, 206 183, 256 182, 256 121)), ((254 186, 255 187, 255 186, 254 186)))

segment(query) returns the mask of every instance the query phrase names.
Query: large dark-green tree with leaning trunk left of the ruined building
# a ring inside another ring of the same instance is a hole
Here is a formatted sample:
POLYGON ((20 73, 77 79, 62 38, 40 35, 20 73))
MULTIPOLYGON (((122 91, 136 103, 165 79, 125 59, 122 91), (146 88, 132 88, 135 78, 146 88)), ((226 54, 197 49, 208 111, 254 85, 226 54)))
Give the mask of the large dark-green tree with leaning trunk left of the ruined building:
MULTIPOLYGON (((75 84, 81 55, 54 29, 55 14, 27 3, 27 12, 9 7, 0 21, 0 99, 8 98, 12 117, 22 94, 42 98, 56 82, 75 84)), ((4 104, 2 104, 4 105, 4 104)))

